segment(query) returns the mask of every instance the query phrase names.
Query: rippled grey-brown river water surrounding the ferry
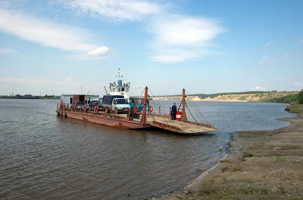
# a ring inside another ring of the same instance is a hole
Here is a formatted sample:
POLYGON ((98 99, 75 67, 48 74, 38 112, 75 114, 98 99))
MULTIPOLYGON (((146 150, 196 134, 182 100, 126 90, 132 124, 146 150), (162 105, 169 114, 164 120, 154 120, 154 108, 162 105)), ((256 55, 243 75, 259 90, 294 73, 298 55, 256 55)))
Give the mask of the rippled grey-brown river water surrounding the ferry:
POLYGON ((288 122, 277 118, 295 116, 284 111, 287 104, 195 102, 219 130, 186 137, 57 117, 57 103, 0 99, 0 199, 144 199, 171 192, 218 162, 233 133, 284 127, 288 122))

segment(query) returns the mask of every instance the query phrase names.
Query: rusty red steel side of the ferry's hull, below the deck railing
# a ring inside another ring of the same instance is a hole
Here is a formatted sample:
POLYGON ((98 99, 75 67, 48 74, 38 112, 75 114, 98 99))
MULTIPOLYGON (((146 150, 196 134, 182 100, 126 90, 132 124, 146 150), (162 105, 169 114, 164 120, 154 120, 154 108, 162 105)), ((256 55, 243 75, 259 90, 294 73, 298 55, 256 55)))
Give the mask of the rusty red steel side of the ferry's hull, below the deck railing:
POLYGON ((120 129, 140 129, 140 128, 150 128, 149 124, 140 124, 138 122, 126 121, 126 119, 115 119, 110 117, 105 117, 103 115, 89 114, 85 112, 69 112, 69 111, 56 111, 56 113, 63 114, 63 116, 79 119, 86 122, 92 122, 96 124, 101 124, 109 126, 112 128, 120 129), (65 115, 66 113, 66 115, 65 115))

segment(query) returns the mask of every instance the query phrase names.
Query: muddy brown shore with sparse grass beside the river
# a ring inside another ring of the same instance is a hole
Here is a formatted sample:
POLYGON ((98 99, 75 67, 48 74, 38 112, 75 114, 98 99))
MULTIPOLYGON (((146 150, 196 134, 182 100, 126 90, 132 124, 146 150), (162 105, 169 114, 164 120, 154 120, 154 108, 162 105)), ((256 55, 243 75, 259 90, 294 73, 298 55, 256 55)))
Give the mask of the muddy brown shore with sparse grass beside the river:
POLYGON ((281 119, 288 127, 236 133, 227 158, 157 199, 303 199, 303 105, 289 109, 298 116, 281 119))

